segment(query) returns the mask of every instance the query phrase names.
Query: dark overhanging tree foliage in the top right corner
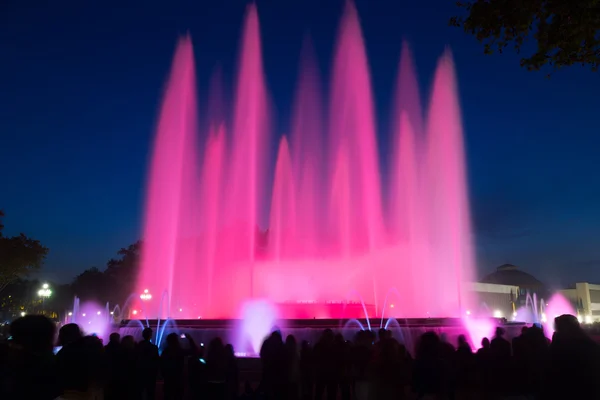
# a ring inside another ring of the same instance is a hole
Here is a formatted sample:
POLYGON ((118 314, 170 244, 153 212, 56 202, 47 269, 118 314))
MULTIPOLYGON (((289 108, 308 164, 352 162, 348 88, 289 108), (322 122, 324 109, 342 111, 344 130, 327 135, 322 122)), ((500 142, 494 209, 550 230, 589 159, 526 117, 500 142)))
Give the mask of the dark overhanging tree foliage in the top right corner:
POLYGON ((521 66, 539 70, 580 64, 600 67, 600 0, 458 1, 466 16, 450 25, 462 27, 484 45, 502 53, 508 46, 521 52, 533 38, 537 49, 521 58, 521 66))

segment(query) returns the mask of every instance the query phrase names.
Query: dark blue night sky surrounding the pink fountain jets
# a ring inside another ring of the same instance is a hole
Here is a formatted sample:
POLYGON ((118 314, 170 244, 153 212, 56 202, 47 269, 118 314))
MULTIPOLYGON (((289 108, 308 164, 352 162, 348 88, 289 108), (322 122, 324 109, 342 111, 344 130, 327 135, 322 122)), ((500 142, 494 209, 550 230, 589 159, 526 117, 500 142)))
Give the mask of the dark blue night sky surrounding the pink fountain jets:
MULTIPOLYGON (((231 88, 246 4, 0 3, 0 208, 7 233, 50 247, 45 278, 103 267, 139 237, 149 145, 177 37, 192 35, 205 102, 217 65, 231 88)), ((326 78, 343 1, 257 4, 284 127, 303 37, 310 32, 326 78)), ((454 52, 480 274, 510 262, 548 282, 599 282, 599 75, 576 66, 548 80, 520 68, 512 52, 484 56, 448 27, 454 1, 357 0, 357 8, 381 140, 402 39, 424 96, 444 46, 454 52)))

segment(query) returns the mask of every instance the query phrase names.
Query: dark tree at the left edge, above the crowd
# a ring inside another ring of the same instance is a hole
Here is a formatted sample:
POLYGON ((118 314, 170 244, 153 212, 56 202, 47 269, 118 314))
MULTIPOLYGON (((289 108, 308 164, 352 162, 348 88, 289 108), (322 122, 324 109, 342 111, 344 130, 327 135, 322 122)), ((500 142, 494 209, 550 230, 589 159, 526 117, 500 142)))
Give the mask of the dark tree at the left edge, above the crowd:
MULTIPOLYGON (((4 214, 0 212, 0 217, 2 216, 4 214)), ((2 227, 0 223, 0 229, 2 227)), ((0 292, 15 280, 38 271, 48 251, 39 240, 31 239, 23 233, 6 237, 0 230, 0 292)))

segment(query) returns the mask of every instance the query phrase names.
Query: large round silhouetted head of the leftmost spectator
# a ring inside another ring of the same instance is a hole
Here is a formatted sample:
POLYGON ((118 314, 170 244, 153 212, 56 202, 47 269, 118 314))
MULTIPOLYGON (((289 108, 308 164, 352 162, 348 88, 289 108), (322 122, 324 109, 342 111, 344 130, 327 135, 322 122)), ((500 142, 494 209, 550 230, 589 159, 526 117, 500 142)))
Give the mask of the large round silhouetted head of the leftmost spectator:
POLYGON ((13 343, 34 352, 52 351, 55 325, 43 315, 26 315, 10 324, 13 343))

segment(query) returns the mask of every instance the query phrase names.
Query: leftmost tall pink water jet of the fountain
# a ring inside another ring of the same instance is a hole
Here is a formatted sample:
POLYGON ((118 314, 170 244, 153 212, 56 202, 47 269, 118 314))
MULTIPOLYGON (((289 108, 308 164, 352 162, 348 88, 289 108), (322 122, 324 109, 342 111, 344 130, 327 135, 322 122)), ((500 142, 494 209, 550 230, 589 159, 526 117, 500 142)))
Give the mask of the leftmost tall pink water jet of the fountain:
MULTIPOLYGON (((178 250, 182 212, 191 203, 188 187, 196 184, 191 172, 195 168, 196 100, 192 43, 189 37, 179 40, 171 74, 160 110, 154 151, 150 163, 144 246, 137 290, 160 293, 173 291, 176 262, 184 261, 187 251, 178 250)), ((190 273, 193 264, 177 265, 178 274, 190 273)), ((157 311, 157 310, 156 310, 157 311)))

